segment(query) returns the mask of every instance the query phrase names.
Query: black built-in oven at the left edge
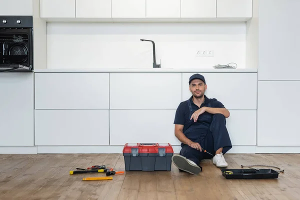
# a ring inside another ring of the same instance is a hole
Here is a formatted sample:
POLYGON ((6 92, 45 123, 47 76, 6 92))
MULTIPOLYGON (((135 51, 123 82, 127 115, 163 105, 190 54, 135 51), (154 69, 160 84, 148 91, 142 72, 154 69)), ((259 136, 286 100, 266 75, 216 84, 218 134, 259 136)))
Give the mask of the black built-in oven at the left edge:
POLYGON ((32 35, 32 16, 0 16, 0 72, 33 71, 32 35))

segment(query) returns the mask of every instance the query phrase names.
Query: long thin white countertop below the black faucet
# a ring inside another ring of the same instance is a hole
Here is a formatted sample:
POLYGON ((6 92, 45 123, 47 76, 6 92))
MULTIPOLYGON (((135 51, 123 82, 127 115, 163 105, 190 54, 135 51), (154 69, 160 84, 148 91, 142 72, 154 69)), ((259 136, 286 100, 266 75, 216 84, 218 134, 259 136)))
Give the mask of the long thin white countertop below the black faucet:
POLYGON ((34 69, 34 72, 257 72, 256 68, 91 68, 34 69))

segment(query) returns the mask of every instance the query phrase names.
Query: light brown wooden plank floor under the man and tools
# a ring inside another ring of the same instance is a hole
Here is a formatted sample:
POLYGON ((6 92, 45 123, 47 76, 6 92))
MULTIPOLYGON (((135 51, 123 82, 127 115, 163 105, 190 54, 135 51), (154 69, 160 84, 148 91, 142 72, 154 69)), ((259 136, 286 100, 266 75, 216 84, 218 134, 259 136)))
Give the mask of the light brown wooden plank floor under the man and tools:
MULTIPOLYGON (((104 173, 69 174, 104 164, 124 170, 121 154, 0 154, 0 199, 300 199, 300 154, 225 154, 228 168, 271 164, 277 179, 225 179, 211 160, 199 175, 171 171, 127 171, 112 180, 82 181, 104 173)), ((263 167, 259 167, 263 168, 263 167)))

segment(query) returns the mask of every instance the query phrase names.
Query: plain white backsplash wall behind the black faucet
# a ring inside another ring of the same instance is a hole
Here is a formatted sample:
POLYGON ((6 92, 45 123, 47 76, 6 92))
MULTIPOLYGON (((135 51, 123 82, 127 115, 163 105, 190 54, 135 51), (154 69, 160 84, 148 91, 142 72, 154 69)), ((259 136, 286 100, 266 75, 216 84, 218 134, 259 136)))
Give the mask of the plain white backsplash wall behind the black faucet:
POLYGON ((245 22, 48 22, 47 68, 245 68, 245 22), (214 50, 214 57, 196 57, 214 50))

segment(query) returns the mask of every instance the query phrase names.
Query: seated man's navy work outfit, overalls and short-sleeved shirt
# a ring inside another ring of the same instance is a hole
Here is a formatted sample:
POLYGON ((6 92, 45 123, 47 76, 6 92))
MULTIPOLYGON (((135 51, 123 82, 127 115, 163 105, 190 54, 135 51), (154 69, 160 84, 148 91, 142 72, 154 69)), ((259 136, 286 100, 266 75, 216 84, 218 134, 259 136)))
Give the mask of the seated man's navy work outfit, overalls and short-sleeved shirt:
MULTIPOLYGON (((224 105, 215 98, 207 98, 200 107, 224 107, 224 105)), ((176 115, 175 124, 183 124, 184 135, 193 142, 198 142, 202 148, 211 154, 220 147, 223 147, 222 153, 225 154, 232 148, 229 134, 226 128, 226 119, 223 114, 210 114, 204 112, 198 116, 196 122, 190 119, 192 113, 199 109, 192 101, 192 96, 179 104, 176 115)), ((194 161, 199 165, 202 159, 210 159, 212 155, 181 143, 180 155, 194 161)))

